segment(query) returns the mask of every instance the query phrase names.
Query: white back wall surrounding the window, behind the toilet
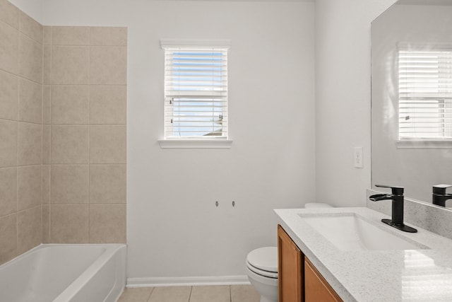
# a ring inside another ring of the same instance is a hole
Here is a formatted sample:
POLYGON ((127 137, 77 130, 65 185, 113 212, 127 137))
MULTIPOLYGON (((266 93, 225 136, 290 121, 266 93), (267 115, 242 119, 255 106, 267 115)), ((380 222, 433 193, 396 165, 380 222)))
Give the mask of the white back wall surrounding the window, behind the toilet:
POLYGON ((42 5, 44 25, 129 27, 129 277, 244 275, 249 250, 276 244, 273 209, 315 199, 314 3, 42 5), (232 40, 232 149, 160 149, 162 37, 232 40))

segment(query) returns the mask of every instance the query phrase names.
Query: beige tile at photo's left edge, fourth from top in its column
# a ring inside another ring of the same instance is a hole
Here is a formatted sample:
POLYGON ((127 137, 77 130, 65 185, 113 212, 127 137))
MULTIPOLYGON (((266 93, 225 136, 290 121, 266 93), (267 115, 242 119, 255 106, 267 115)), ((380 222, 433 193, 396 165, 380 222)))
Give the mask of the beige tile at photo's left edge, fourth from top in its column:
POLYGON ((0 120, 0 167, 17 165, 17 124, 0 120))

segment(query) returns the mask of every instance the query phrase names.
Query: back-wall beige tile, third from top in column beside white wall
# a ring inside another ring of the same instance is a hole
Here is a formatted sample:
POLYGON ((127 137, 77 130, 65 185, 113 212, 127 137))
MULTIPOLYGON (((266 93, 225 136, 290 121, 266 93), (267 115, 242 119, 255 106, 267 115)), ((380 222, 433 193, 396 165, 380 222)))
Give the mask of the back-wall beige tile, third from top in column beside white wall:
POLYGON ((126 124, 126 86, 90 87, 90 123, 126 124))

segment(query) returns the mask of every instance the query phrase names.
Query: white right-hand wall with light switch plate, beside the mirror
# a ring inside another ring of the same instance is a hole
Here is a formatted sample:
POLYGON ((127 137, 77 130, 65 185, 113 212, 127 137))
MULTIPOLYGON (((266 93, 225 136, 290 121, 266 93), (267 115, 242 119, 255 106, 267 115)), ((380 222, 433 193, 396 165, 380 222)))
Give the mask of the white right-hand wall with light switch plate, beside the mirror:
POLYGON ((370 23, 395 0, 316 0, 316 197, 365 206, 370 167, 370 23), (364 168, 353 148, 364 147, 364 168))

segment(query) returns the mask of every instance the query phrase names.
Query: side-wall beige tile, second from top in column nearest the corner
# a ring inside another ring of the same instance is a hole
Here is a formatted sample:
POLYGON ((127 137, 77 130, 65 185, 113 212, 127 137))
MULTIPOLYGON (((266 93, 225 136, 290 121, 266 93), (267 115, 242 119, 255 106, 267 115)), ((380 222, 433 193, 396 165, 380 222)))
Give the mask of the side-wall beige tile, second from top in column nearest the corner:
POLYGON ((42 83, 42 45, 22 33, 19 34, 19 75, 42 83))

